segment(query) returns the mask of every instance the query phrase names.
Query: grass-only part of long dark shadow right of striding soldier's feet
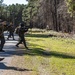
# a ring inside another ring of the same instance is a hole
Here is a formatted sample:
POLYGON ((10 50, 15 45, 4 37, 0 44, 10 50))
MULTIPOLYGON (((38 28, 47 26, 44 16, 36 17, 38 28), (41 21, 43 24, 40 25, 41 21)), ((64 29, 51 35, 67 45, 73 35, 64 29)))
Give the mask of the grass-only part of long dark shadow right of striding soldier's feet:
POLYGON ((58 58, 65 58, 65 59, 75 59, 75 56, 62 53, 62 52, 56 52, 56 51, 45 51, 41 48, 35 48, 31 51, 27 52, 26 54, 31 56, 43 56, 43 57, 58 57, 58 58))

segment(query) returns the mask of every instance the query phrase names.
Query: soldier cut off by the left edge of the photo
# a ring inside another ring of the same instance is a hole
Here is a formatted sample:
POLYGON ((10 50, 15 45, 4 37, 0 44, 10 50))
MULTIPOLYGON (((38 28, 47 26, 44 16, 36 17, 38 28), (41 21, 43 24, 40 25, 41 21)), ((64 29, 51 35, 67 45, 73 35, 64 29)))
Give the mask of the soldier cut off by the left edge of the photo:
POLYGON ((4 52, 3 47, 5 44, 5 38, 4 38, 4 22, 0 22, 0 52, 4 52))

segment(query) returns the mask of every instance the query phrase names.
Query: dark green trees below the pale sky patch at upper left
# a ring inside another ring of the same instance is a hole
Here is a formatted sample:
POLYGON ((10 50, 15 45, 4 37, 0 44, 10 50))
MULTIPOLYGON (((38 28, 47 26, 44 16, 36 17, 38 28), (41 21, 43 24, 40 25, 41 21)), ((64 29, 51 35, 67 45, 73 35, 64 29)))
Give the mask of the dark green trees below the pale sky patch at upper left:
POLYGON ((13 21, 14 18, 18 24, 20 21, 22 21, 22 11, 24 7, 25 5, 23 4, 12 4, 9 6, 2 4, 0 7, 0 16, 4 17, 8 21, 13 21))

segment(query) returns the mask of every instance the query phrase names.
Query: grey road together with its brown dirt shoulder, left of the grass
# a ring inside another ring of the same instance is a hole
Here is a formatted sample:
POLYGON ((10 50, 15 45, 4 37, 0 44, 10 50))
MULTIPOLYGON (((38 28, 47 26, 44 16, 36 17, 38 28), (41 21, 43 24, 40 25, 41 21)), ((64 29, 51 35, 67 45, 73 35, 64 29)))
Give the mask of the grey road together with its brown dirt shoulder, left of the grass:
MULTIPOLYGON (((7 38, 7 36, 5 36, 7 38)), ((34 71, 30 68, 26 68, 24 62, 24 52, 23 48, 16 48, 18 36, 15 36, 15 40, 6 40, 4 50, 5 52, 0 52, 0 57, 5 57, 5 59, 0 62, 0 75, 35 75, 34 71)))

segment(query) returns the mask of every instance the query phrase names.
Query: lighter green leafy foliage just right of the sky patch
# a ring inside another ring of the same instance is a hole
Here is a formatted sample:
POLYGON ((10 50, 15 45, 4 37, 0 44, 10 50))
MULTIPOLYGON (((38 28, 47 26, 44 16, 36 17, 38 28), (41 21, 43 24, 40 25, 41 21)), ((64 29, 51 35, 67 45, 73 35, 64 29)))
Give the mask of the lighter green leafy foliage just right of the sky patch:
POLYGON ((37 15, 37 8, 39 6, 38 0, 28 0, 28 5, 23 10, 22 19, 30 24, 33 21, 33 17, 37 15))

